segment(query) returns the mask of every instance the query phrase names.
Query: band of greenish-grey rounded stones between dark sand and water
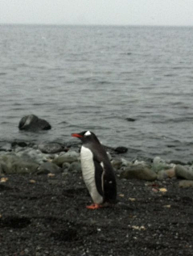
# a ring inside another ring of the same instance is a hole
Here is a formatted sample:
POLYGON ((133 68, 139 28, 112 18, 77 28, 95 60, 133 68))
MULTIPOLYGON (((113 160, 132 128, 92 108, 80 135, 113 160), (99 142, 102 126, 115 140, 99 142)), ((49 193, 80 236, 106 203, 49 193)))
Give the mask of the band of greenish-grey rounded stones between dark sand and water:
MULTIPOLYGON (((35 144, 31 141, 13 141, 1 145, 0 175, 6 174, 68 174, 81 172, 80 143, 48 142, 35 144)), ((125 157, 127 149, 104 146, 117 178, 139 178, 143 180, 162 180, 184 178, 193 180, 192 162, 165 161, 161 157, 152 159, 125 157)))

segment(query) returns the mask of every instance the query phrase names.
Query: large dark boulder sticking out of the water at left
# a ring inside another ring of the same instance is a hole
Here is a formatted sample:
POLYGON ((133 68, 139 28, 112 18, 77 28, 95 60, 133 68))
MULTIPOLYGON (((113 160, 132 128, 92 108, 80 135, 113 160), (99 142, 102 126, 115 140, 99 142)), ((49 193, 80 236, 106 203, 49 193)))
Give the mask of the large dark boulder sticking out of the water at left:
POLYGON ((39 130, 49 130, 51 125, 46 121, 39 119, 36 115, 25 115, 18 124, 19 130, 36 132, 39 130))

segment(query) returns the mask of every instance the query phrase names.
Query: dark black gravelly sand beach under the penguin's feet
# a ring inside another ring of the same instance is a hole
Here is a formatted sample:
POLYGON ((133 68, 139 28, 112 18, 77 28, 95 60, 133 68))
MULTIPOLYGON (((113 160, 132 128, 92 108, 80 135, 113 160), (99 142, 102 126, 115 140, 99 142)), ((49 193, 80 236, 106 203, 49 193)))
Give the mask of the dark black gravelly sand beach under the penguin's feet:
POLYGON ((2 256, 193 255, 193 189, 179 188, 179 180, 117 179, 123 204, 88 210, 80 174, 6 177, 0 183, 2 256))

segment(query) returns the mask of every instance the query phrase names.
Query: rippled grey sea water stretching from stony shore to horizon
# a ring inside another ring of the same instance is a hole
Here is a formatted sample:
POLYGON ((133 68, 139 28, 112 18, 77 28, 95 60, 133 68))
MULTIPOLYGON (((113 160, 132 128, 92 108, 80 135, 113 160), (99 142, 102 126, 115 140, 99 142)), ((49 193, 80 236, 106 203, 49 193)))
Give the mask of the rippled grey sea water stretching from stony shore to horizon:
POLYGON ((0 141, 91 130, 125 157, 193 161, 193 27, 0 25, 0 141), (19 132, 23 115, 47 132, 19 132))

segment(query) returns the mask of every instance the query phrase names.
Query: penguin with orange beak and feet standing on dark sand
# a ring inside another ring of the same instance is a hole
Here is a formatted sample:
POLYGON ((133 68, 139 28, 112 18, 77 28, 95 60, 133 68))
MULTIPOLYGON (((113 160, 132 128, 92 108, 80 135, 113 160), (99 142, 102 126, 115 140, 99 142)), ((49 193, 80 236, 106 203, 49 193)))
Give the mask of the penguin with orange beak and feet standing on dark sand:
POLYGON ((102 208, 117 203, 117 183, 109 157, 93 132, 72 133, 82 141, 80 162, 83 179, 93 204, 88 209, 102 208))

